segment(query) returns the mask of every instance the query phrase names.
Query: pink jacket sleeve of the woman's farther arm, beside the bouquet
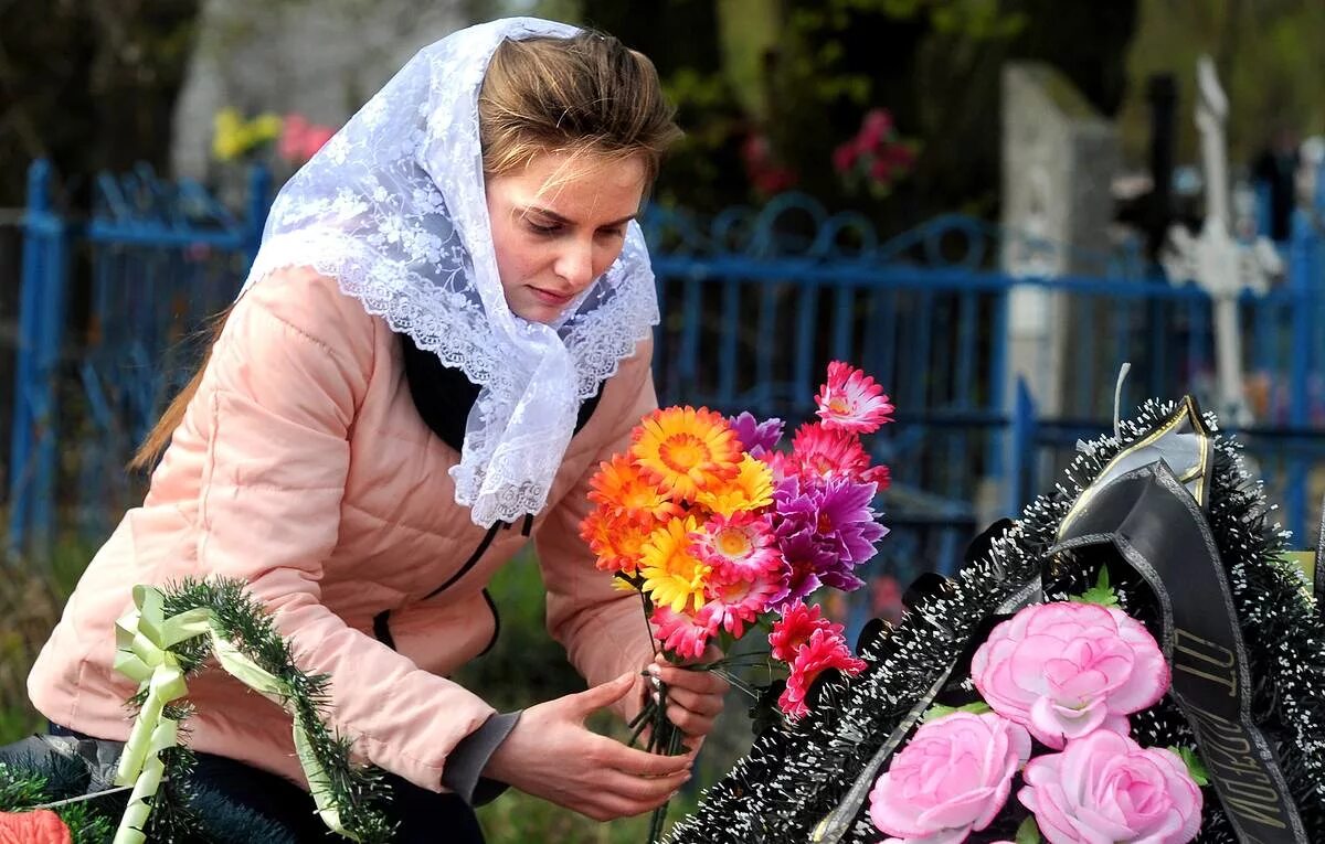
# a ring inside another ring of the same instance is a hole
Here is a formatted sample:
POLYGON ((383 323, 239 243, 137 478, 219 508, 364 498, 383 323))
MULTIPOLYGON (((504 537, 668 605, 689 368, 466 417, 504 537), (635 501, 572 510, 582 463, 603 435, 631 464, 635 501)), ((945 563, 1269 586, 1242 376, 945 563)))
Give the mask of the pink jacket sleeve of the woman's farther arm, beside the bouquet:
MULTIPOLYGON (((613 578, 596 568, 594 553, 579 536, 579 524, 592 507, 590 478, 599 463, 629 447, 631 430, 644 414, 657 409, 649 370, 652 349, 652 340, 641 343, 604 385, 603 402, 595 411, 611 419, 604 444, 535 534, 547 586, 547 630, 591 687, 627 671, 640 671, 653 659, 640 595, 616 589, 613 578), (615 393, 611 402, 607 390, 615 393)), ((639 705, 628 696, 617 709, 629 718, 639 705)))

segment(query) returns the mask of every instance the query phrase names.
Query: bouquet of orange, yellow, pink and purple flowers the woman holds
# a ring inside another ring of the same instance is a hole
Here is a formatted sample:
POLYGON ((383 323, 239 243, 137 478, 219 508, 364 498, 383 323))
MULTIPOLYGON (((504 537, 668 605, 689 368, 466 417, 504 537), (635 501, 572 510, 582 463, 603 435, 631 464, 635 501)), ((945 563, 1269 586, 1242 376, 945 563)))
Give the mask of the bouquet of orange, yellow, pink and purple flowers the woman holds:
MULTIPOLYGON (((890 421, 893 406, 864 372, 833 361, 815 396, 818 421, 779 451, 780 419, 734 418, 705 407, 666 407, 635 429, 629 451, 591 479, 596 508, 580 533, 598 565, 643 597, 661 651, 700 660, 726 651, 751 628, 771 627, 771 656, 787 665, 779 705, 802 716, 806 691, 825 669, 864 667, 840 624, 806 599, 820 586, 849 591, 886 529, 871 504, 888 485, 861 444, 890 421)), ((702 669, 727 672, 731 663, 702 669)), ((660 696, 665 689, 660 691, 660 696)), ((665 698, 641 713, 651 749, 676 753, 665 698)))

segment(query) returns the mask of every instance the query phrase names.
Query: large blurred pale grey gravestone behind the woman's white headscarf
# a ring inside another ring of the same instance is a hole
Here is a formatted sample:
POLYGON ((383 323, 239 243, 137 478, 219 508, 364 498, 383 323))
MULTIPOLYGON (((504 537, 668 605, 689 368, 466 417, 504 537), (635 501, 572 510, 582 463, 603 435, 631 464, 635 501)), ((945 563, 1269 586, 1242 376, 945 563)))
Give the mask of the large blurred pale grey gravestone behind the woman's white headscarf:
MULTIPOLYGON (((172 165, 205 177, 212 119, 297 112, 339 127, 420 48, 470 22, 465 0, 207 0, 175 107, 172 165)), ((497 4, 502 12, 509 4, 497 4)))

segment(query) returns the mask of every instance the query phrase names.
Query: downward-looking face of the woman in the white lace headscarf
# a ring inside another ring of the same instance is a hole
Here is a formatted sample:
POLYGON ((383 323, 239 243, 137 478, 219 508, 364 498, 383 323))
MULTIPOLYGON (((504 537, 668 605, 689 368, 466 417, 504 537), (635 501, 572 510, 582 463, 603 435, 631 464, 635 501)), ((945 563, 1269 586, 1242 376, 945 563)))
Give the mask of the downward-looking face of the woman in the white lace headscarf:
POLYGON ((497 271, 510 310, 550 323, 607 271, 640 210, 644 163, 546 152, 488 180, 497 271))

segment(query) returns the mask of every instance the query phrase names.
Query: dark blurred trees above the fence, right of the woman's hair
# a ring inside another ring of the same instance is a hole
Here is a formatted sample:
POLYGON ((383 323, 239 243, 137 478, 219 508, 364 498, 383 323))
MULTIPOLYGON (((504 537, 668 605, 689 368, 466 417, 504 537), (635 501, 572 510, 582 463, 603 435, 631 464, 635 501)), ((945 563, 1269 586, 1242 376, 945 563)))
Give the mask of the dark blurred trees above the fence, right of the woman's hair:
POLYGON ((791 181, 829 208, 860 208, 897 230, 947 210, 996 216, 1003 62, 1048 62, 1096 108, 1116 114, 1137 1, 678 0, 624 8, 582 0, 578 20, 647 53, 678 105, 689 136, 664 168, 662 201, 713 210, 758 200, 747 161, 763 152, 775 176, 786 176, 772 184, 791 181), (876 107, 889 110, 900 135, 920 148, 912 177, 882 200, 848 194, 832 167, 833 148, 876 107))

